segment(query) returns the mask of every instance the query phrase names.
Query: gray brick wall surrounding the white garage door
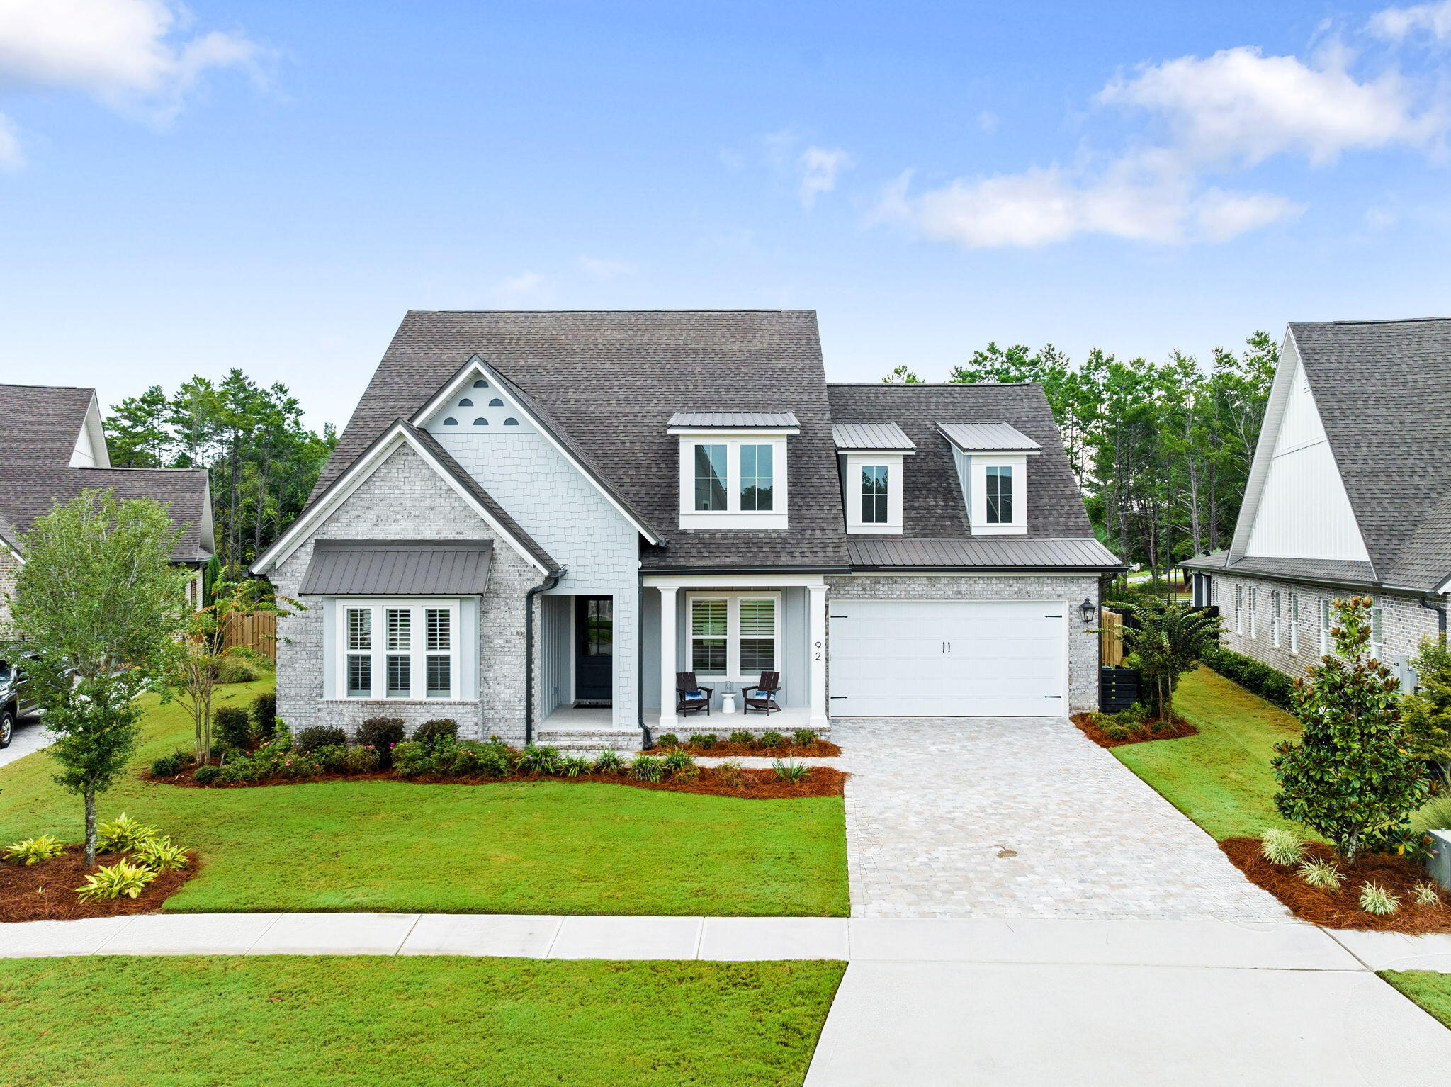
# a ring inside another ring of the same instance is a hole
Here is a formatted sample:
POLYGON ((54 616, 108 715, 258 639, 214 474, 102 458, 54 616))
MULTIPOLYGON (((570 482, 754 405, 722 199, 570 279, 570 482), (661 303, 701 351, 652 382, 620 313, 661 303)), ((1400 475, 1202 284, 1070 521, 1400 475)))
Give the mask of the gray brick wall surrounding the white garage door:
MULTIPOLYGON (((1093 575, 856 575, 827 578, 827 596, 846 599, 1098 601, 1093 575)), ((1098 708, 1098 636, 1069 612, 1068 711, 1098 708)), ((830 684, 830 672, 827 673, 830 684)))

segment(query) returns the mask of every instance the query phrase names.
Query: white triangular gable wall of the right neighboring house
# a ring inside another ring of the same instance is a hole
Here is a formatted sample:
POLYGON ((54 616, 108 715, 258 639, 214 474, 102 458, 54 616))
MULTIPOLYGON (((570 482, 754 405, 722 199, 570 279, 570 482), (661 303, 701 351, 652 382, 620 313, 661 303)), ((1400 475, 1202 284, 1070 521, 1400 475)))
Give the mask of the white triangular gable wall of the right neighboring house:
MULTIPOLYGON (((1387 479, 1394 466, 1387 464, 1387 479)), ((1309 376, 1287 334, 1230 560, 1370 562, 1309 376)))

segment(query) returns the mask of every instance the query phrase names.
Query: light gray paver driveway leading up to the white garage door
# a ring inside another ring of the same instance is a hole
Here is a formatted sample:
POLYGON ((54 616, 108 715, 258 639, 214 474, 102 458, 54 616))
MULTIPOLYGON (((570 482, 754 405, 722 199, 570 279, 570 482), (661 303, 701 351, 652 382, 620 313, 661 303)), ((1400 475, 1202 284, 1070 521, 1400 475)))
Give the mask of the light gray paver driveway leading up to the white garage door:
POLYGON ((1066 720, 837 718, 831 739, 852 916, 1290 920, 1066 720))

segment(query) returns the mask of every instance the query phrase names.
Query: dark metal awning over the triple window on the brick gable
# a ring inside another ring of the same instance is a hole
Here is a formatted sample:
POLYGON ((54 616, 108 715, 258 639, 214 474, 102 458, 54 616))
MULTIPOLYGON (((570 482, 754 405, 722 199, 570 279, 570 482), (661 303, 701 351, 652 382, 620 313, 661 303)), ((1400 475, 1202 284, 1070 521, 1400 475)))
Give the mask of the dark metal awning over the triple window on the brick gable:
POLYGON ((318 540, 303 596, 477 596, 492 540, 318 540))

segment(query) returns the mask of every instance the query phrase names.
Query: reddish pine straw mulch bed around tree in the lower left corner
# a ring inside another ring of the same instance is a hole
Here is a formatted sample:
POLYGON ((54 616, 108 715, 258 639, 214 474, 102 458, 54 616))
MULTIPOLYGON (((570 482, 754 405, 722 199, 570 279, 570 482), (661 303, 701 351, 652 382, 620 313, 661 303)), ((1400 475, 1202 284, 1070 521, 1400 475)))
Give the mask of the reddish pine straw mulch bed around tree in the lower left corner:
MULTIPOLYGON (((96 858, 96 868, 125 859, 125 853, 96 858)), ((75 888, 96 868, 86 866, 86 848, 65 846, 65 852, 36 865, 0 862, 0 922, 61 922, 75 917, 115 917, 123 913, 155 913, 161 903, 181 890, 181 884, 196 875, 200 861, 187 853, 187 866, 180 872, 161 872, 147 884, 136 898, 110 898, 83 903, 75 888)))

